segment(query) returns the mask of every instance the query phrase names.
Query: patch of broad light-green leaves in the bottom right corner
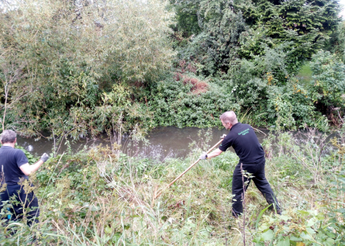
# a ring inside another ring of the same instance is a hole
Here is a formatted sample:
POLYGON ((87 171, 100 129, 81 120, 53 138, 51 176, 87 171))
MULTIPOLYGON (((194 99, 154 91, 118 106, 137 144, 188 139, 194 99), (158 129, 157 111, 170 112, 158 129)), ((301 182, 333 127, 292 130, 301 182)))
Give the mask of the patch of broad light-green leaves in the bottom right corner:
POLYGON ((256 246, 264 246, 265 243, 276 246, 345 245, 342 227, 333 221, 337 217, 327 218, 327 215, 331 215, 331 212, 291 208, 277 217, 264 215, 253 242, 256 246))

